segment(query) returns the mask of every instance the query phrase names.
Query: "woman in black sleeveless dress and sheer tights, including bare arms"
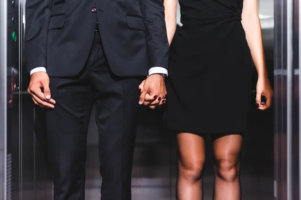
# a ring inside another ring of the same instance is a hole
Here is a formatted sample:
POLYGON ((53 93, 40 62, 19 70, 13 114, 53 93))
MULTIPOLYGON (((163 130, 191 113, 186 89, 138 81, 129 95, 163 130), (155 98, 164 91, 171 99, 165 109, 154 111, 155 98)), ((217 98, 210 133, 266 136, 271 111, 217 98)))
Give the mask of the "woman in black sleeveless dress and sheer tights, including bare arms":
POLYGON ((183 26, 176 31, 177 3, 164 0, 171 45, 167 122, 178 133, 180 150, 177 196, 202 199, 205 136, 211 134, 214 199, 240 199, 239 153, 253 102, 251 59, 258 109, 270 107, 273 95, 257 0, 179 0, 183 26))

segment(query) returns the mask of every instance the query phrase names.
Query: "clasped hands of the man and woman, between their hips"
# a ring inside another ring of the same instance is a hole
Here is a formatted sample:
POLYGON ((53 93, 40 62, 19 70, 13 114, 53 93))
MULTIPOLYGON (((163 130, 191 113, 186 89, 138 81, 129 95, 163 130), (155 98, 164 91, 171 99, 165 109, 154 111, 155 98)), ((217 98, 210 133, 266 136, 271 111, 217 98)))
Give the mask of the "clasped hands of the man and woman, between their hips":
POLYGON ((155 109, 158 105, 161 106, 166 102, 166 87, 164 78, 160 74, 152 74, 148 76, 139 85, 140 97, 139 104, 148 105, 155 109))

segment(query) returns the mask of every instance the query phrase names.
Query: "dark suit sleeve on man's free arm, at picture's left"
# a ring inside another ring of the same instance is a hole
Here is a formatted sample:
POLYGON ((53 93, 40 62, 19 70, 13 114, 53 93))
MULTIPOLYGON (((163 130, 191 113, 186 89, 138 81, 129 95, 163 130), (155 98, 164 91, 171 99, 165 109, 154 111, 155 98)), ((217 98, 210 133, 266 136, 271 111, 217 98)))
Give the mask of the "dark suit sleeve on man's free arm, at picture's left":
POLYGON ((26 0, 25 53, 27 72, 46 67, 48 23, 52 0, 26 0))

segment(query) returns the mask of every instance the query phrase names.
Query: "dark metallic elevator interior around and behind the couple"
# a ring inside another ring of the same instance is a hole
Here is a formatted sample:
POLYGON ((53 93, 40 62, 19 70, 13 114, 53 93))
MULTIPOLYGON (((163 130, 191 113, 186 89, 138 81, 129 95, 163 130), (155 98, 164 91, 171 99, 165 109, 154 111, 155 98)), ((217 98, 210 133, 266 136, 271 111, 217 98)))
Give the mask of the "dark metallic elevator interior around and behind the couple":
MULTIPOLYGON (((297 124, 301 123, 297 123, 300 120, 298 117, 300 112, 291 113, 289 110, 291 111, 292 106, 299 110, 300 64, 297 58, 292 59, 293 63, 289 62, 289 56, 292 56, 289 54, 289 44, 298 44, 300 41, 298 25, 300 9, 297 7, 300 5, 298 0, 259 0, 258 2, 269 79, 271 83, 275 82, 275 109, 259 111, 254 106, 250 114, 248 132, 241 153, 242 199, 297 200, 301 199, 300 194, 296 188, 292 189, 292 185, 300 187, 300 137, 298 136, 300 129, 297 124), (293 3, 295 4, 291 12, 293 16, 290 16, 287 14, 289 13, 287 10, 291 8, 288 5, 292 6, 293 3), (287 28, 295 31, 291 33, 287 28), (294 42, 289 38, 294 39, 294 42), (294 68, 292 70, 294 73, 291 73, 291 68, 294 68), (282 69, 286 69, 286 73, 282 69), (289 74, 291 76, 288 76, 289 74), (293 79, 292 76, 295 78, 293 79), (292 79, 294 87, 290 82, 292 79), (294 96, 293 100, 289 95, 294 96), (291 118, 292 114, 294 118, 291 118), (292 133, 294 133, 293 145, 292 133), (292 171, 296 174, 294 178, 297 180, 292 180, 290 174, 292 171), (293 198, 292 196, 289 198, 287 191, 296 194, 293 198)), ((26 74, 25 56, 23 56, 26 26, 24 5, 25 0, 0 1, 0 200, 52 199, 52 183, 47 170, 43 126, 45 121, 37 117, 39 110, 34 109, 31 97, 27 93, 29 78, 26 74)), ((299 45, 293 45, 293 49, 293 57, 297 57, 297 53, 301 52, 299 45)), ((256 78, 254 69, 254 91, 256 78)), ((255 105, 255 92, 253 94, 255 105)), ((132 199, 134 200, 176 199, 177 145, 173 132, 164 126, 163 112, 163 109, 155 111, 146 107, 140 109, 132 173, 132 199)), ((97 141, 96 124, 91 120, 86 162, 86 199, 88 200, 100 199, 101 177, 95 141, 97 141)), ((208 142, 204 177, 205 199, 212 199, 210 197, 214 181, 212 163, 211 144, 208 142)))

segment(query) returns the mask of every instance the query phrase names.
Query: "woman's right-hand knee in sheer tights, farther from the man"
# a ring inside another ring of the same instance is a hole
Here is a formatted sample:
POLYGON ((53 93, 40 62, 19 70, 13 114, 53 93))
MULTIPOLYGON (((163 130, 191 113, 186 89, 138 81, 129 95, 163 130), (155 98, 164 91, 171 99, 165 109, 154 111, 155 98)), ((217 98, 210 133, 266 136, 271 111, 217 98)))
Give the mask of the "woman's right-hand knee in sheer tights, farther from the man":
POLYGON ((234 181, 239 175, 239 161, 228 159, 217 160, 215 173, 225 181, 234 181))

